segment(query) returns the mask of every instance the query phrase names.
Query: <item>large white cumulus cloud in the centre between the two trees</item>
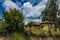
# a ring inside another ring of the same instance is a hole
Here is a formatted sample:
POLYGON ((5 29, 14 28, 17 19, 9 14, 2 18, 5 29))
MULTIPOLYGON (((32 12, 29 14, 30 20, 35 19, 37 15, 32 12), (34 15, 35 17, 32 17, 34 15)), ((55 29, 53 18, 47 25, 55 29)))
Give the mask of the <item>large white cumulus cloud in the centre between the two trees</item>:
MULTIPOLYGON (((26 2, 23 5, 23 12, 26 15, 25 17, 36 17, 41 15, 41 11, 46 7, 47 0, 42 0, 38 5, 32 6, 30 2, 26 2)), ((28 19, 30 20, 30 19, 28 19)), ((27 20, 27 21, 28 21, 27 20)), ((40 19, 34 19, 32 21, 41 21, 40 19)))

